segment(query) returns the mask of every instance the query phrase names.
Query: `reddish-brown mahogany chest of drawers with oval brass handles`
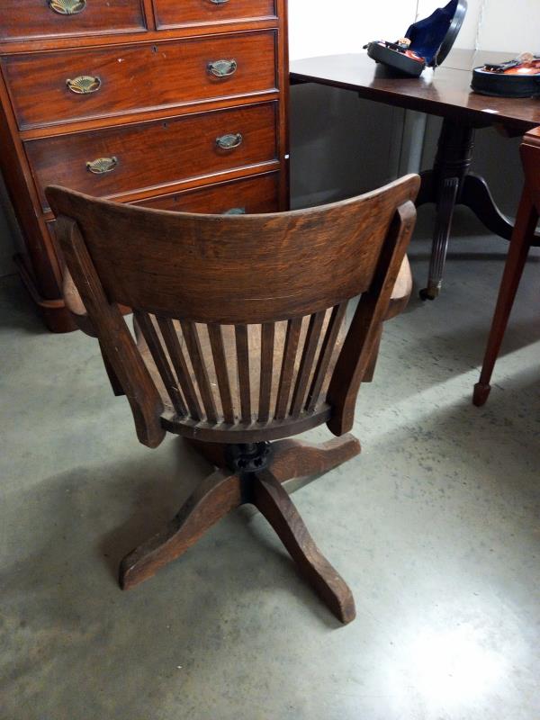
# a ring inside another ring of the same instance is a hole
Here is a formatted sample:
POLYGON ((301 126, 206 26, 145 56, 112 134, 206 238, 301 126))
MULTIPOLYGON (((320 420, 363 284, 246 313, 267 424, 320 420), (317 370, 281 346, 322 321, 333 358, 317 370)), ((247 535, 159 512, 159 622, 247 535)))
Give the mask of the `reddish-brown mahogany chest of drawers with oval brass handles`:
POLYGON ((72 329, 44 188, 197 212, 288 202, 285 0, 2 0, 0 163, 16 258, 72 329))

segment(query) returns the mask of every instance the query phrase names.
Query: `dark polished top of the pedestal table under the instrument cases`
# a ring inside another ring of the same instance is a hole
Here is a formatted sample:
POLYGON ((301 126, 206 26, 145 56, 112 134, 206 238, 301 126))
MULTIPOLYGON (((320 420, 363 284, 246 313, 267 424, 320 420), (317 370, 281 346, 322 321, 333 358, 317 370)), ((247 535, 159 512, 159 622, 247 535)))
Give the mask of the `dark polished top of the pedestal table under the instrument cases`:
POLYGON ((432 115, 468 122, 475 127, 502 125, 527 132, 540 125, 540 97, 489 97, 473 93, 473 67, 508 60, 512 53, 453 50, 437 70, 422 76, 392 75, 365 53, 304 58, 291 62, 291 82, 312 82, 356 90, 360 97, 432 115))

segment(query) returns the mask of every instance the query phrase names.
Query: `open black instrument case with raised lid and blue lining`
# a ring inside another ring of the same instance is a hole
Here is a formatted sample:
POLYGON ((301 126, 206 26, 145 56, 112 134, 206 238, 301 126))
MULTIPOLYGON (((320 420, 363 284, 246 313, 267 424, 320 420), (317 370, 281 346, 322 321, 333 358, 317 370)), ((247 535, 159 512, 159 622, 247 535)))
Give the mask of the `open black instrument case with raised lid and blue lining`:
POLYGON ((419 56, 410 58, 397 42, 374 40, 365 45, 375 62, 392 67, 402 75, 419 77, 425 67, 442 65, 452 49, 467 13, 467 0, 450 0, 428 18, 413 23, 405 37, 411 40, 408 49, 419 56))

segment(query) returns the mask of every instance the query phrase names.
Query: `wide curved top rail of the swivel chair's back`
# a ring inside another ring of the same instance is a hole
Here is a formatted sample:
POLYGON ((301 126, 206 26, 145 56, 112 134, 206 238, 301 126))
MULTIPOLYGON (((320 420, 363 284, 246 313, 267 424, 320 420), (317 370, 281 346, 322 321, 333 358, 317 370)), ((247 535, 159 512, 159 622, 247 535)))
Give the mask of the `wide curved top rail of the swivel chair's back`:
MULTIPOLYGON (((409 175, 320 208, 238 217, 171 215, 58 187, 48 197, 53 210, 71 213, 85 228, 112 300, 196 322, 247 324, 327 310, 365 292, 396 209, 418 187, 418 176, 409 175), (314 268, 324 283, 313 283, 314 268)), ((414 207, 409 214, 411 227, 414 207)), ((398 271, 393 268, 386 305, 398 271)))

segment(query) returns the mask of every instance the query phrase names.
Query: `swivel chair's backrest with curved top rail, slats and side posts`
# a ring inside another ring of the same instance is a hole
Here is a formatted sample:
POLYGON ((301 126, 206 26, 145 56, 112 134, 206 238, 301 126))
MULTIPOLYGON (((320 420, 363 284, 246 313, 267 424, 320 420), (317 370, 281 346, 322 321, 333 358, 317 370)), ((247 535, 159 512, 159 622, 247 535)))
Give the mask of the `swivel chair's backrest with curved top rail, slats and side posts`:
POLYGON ((157 445, 166 427, 158 383, 185 435, 248 442, 324 421, 346 431, 418 187, 409 175, 318 208, 243 216, 156 211, 49 187, 68 269, 141 442, 157 445), (157 379, 117 303, 133 309, 157 379))

